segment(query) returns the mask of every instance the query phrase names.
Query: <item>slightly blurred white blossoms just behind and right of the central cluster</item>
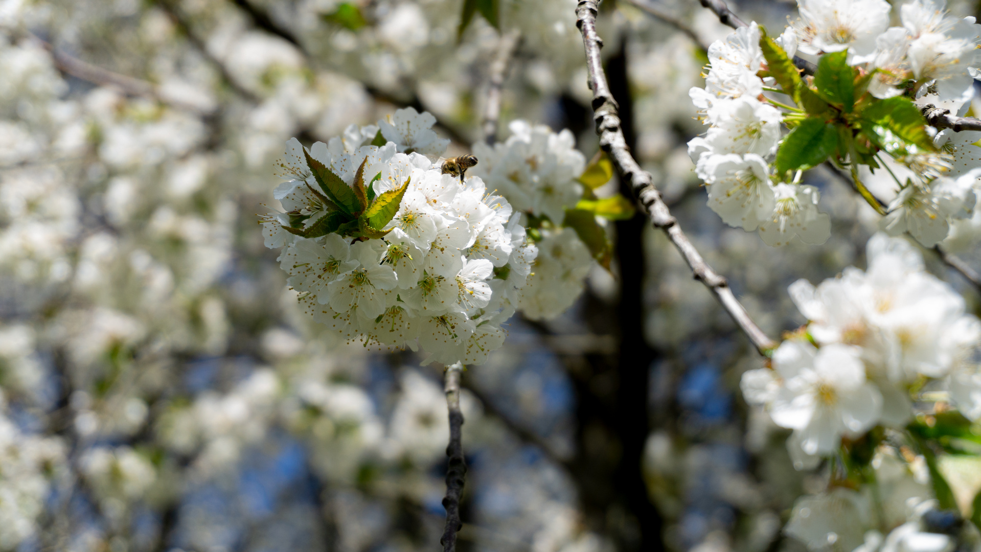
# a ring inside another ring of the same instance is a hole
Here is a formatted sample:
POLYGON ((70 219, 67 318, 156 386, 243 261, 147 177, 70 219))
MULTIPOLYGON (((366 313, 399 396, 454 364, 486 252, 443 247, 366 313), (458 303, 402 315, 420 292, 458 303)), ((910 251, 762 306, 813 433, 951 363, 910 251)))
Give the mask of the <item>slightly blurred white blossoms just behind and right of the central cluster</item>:
POLYGON ((582 294, 592 266, 590 249, 575 230, 562 226, 566 210, 583 198, 578 178, 586 158, 568 128, 556 133, 521 120, 509 128, 511 135, 503 143, 474 145, 480 164, 471 172, 535 221, 529 226, 536 227, 539 254, 518 306, 532 320, 553 319, 582 294))

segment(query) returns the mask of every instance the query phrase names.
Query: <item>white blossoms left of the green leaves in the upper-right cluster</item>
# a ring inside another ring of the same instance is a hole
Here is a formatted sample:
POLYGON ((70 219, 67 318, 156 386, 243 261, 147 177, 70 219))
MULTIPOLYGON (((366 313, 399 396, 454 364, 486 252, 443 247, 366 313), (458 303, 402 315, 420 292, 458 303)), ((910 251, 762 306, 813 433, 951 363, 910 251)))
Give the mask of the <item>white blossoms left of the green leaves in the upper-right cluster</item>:
MULTIPOLYGON (((764 82, 756 74, 765 64, 759 36, 754 22, 709 46, 705 87, 690 91, 709 128, 688 143, 689 155, 707 186, 708 206, 727 225, 758 230, 768 245, 785 245, 795 236, 821 244, 831 221, 817 211, 818 190, 771 178, 768 160, 777 151, 783 114, 759 99, 764 82)), ((792 30, 777 42, 794 55, 792 30)))

